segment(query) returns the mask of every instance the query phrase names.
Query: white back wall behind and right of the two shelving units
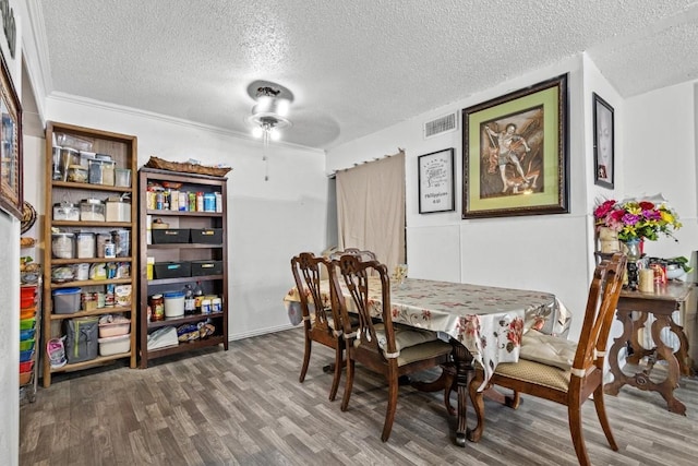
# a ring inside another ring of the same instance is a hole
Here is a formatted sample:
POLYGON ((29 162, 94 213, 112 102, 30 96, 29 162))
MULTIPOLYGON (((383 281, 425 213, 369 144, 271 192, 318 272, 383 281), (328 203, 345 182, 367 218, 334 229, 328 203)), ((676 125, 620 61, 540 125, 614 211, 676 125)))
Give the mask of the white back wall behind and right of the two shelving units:
POLYGON ((286 328, 282 298, 290 258, 325 248, 327 177, 320 151, 272 143, 268 181, 262 143, 232 133, 94 101, 49 98, 46 118, 139 138, 139 166, 151 156, 227 164, 230 337, 286 328))

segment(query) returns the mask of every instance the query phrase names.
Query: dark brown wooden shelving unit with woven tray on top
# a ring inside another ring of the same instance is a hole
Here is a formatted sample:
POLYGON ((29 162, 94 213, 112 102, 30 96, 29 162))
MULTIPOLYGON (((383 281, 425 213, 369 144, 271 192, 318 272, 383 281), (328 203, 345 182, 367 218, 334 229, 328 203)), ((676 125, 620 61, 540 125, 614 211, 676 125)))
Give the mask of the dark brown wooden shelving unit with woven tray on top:
POLYGON ((184 174, 178 171, 161 170, 155 168, 141 168, 139 172, 140 206, 140 320, 139 320, 139 353, 141 355, 140 367, 147 368, 148 361, 164 356, 174 355, 207 346, 224 346, 228 349, 228 240, 227 240, 227 178, 207 175, 184 174), (148 186, 163 186, 164 183, 181 184, 178 191, 217 193, 221 202, 221 212, 198 211, 172 211, 153 208, 148 205, 148 186), (217 243, 153 243, 148 241, 148 219, 163 219, 170 228, 189 229, 222 229, 220 242, 217 243), (156 263, 167 261, 221 261, 222 273, 215 275, 200 275, 171 278, 147 277, 147 258, 154 258, 156 263), (209 314, 194 313, 177 318, 166 318, 161 321, 151 320, 147 309, 148 300, 155 294, 167 291, 182 291, 185 285, 194 286, 201 282, 205 295, 215 295, 221 298, 222 308, 219 312, 209 314), (165 326, 179 327, 183 324, 197 324, 208 322, 215 325, 213 335, 192 342, 179 343, 158 349, 148 349, 148 334, 165 326))

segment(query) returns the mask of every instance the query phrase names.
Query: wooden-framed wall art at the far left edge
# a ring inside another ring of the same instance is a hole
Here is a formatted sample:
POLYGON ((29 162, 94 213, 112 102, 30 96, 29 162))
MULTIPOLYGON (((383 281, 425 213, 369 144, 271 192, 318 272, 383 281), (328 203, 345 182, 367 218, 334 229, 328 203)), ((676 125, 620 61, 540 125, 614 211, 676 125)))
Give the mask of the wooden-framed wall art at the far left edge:
POLYGON ((0 208, 17 219, 23 216, 22 106, 0 53, 0 208))

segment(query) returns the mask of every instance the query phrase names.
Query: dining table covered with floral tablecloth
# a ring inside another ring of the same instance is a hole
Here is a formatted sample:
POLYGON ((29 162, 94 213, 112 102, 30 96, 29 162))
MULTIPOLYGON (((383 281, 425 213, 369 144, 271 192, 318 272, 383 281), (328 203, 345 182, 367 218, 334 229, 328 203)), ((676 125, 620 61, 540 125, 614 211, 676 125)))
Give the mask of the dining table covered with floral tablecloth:
MULTIPOLYGON (((323 301, 328 303, 328 280, 321 284, 321 291, 323 301)), ((377 318, 382 308, 377 277, 370 277, 369 295, 372 312, 377 318)), ((300 324, 300 297, 296 288, 287 292, 284 303, 291 323, 300 324)), ((454 377, 442 377, 421 387, 457 392, 455 442, 459 446, 465 446, 466 439, 477 440, 470 437, 467 426, 468 384, 473 365, 478 363, 485 372, 479 387, 482 391, 500 362, 518 361, 525 332, 535 328, 565 337, 571 320, 570 312, 551 292, 409 277, 390 285, 390 307, 393 322, 436 332, 454 347, 455 387, 440 385, 453 381, 454 377)), ((454 368, 445 367, 444 372, 454 368)))

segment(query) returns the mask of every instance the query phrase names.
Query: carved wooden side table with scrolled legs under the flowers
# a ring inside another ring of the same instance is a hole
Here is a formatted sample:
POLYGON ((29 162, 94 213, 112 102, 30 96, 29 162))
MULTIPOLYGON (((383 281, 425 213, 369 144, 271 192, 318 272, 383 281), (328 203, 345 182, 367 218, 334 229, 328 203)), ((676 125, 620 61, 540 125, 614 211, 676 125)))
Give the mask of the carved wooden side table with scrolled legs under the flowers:
POLYGON ((681 375, 691 373, 690 360, 688 357, 688 339, 684 328, 674 322, 672 314, 674 311, 685 309, 689 301, 694 284, 682 282, 670 282, 663 286, 655 286, 654 292, 641 292, 623 290, 618 299, 616 319, 623 323, 623 334, 614 339, 609 355, 613 382, 604 385, 604 392, 609 395, 617 395, 623 385, 631 385, 639 390, 658 392, 666 401, 670 411, 686 415, 686 406, 674 397, 674 389, 678 386, 681 375), (633 319, 633 312, 637 313, 633 319), (646 349, 640 344, 639 333, 646 326, 648 315, 654 316, 651 324, 651 336, 653 348, 646 349), (679 348, 674 353, 673 348, 666 346, 660 337, 663 328, 669 327, 676 335, 679 348), (629 345, 626 362, 637 365, 648 357, 648 365, 645 370, 633 375, 627 375, 618 367, 618 353, 621 348, 629 345), (666 378, 662 382, 650 380, 650 373, 658 360, 666 361, 666 378))

